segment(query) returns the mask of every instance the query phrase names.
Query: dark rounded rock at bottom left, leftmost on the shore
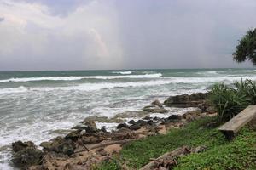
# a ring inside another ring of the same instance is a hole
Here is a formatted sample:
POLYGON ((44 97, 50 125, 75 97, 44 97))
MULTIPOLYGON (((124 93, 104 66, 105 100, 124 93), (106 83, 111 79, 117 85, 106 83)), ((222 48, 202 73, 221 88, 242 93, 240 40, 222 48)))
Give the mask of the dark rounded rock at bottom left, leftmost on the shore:
POLYGON ((15 152, 11 161, 13 161, 16 167, 26 169, 27 167, 30 167, 32 165, 41 164, 42 158, 42 150, 38 150, 32 147, 26 147, 23 150, 15 152))

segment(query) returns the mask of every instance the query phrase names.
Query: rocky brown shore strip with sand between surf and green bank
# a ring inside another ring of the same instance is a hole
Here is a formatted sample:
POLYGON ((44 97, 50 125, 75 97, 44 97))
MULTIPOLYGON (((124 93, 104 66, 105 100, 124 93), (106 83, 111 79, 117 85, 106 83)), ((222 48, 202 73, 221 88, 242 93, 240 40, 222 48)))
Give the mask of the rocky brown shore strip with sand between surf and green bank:
MULTIPOLYGON (((215 115, 211 105, 207 104, 207 95, 207 93, 183 94, 166 99, 164 102, 166 107, 197 108, 183 115, 171 115, 166 118, 144 116, 137 121, 129 122, 114 117, 119 125, 112 132, 108 132, 105 127, 96 127, 96 121, 99 119, 111 122, 108 118, 87 117, 78 126, 73 127, 72 132, 65 137, 56 137, 41 143, 42 150, 39 150, 32 141, 16 141, 12 144, 12 161, 15 167, 21 169, 92 169, 100 162, 118 156, 122 146, 133 140, 166 134, 172 128, 183 127, 193 120, 215 115)), ((137 111, 137 114, 141 116, 148 113, 164 114, 167 112, 164 105, 155 100, 142 111, 137 111)))

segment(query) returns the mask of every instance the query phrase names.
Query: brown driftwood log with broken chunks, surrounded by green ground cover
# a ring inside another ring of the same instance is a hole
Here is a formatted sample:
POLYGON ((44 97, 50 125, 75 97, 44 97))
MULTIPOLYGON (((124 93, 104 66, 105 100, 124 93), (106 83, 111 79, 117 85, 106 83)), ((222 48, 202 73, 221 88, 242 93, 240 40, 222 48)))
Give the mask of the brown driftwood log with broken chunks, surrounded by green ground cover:
POLYGON ((166 154, 158 157, 157 159, 151 159, 147 165, 140 168, 140 170, 153 170, 158 168, 159 166, 168 166, 173 167, 177 165, 176 158, 177 156, 183 156, 189 154, 189 147, 183 146, 181 148, 177 148, 176 150, 172 150, 171 152, 167 152, 166 154))

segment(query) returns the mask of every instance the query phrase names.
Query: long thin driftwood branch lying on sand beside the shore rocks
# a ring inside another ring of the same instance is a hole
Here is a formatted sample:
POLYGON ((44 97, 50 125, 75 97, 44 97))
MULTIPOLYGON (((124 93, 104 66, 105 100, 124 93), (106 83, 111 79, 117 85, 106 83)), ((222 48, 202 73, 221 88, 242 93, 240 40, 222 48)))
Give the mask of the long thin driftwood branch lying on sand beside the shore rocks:
POLYGON ((106 146, 112 145, 112 144, 126 144, 128 142, 131 142, 132 140, 134 140, 134 139, 115 140, 115 141, 109 141, 109 142, 102 142, 99 144, 88 144, 88 145, 84 144, 84 148, 86 148, 86 150, 79 150, 79 151, 76 151, 75 153, 79 153, 79 152, 83 152, 83 151, 90 151, 90 150, 93 150, 96 148, 106 147, 106 146))

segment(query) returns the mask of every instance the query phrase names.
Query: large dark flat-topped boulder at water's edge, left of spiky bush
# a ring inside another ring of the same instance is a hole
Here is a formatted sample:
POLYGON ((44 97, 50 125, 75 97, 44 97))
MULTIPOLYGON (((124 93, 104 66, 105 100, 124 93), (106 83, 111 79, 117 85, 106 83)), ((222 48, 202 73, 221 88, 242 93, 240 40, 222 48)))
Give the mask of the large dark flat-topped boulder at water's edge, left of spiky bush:
POLYGON ((164 104, 168 107, 199 107, 205 103, 209 93, 182 94, 171 96, 164 104))

